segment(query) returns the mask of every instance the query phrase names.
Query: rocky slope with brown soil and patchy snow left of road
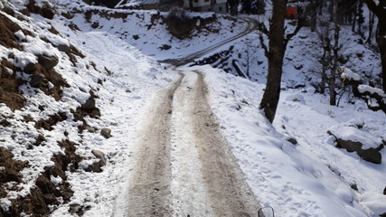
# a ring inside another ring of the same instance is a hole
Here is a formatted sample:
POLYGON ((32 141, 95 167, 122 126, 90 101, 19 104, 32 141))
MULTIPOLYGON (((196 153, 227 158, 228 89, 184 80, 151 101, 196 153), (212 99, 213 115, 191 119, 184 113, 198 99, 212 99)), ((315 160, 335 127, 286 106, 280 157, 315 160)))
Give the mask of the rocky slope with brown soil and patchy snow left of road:
MULTIPOLYGON (((125 86, 120 96, 142 91, 125 76, 126 85, 113 81, 123 77, 64 38, 53 26, 62 15, 47 1, 0 1, 0 216, 82 215, 102 200, 98 187, 91 197, 81 191, 99 173, 111 176, 101 166, 117 155, 106 142, 114 135, 106 114, 117 90, 107 87, 125 86)), ((129 49, 136 56, 126 61, 137 59, 142 67, 126 73, 146 71, 148 80, 164 73, 129 49)))

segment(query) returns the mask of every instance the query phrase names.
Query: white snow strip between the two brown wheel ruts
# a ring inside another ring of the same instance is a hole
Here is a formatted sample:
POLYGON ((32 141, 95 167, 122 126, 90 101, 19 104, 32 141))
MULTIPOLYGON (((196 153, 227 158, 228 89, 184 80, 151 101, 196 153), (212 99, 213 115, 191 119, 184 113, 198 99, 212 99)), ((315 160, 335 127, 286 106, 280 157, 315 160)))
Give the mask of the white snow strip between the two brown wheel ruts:
POLYGON ((172 115, 172 203, 174 216, 211 216, 212 207, 203 185, 202 163, 193 134, 191 107, 197 74, 185 73, 175 91, 172 115))

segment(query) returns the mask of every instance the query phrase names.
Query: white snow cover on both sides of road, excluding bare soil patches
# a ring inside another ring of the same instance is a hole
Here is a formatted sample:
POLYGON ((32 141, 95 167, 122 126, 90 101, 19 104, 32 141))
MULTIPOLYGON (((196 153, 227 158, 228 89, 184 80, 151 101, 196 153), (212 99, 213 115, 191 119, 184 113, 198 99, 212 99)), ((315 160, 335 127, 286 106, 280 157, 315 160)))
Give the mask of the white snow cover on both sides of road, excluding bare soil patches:
MULTIPOLYGON (((18 1, 11 2, 19 4, 18 1)), ((58 10, 71 11, 69 8, 79 6, 77 1, 66 4, 69 4, 68 7, 59 7, 58 10)), ((31 53, 53 53, 60 59, 55 71, 70 87, 63 89, 62 100, 55 101, 41 90, 26 84, 20 88, 26 98, 24 109, 13 112, 5 104, 0 104, 1 117, 11 122, 10 127, 0 126, 0 146, 11 150, 14 159, 28 160, 33 165, 21 172, 24 175, 23 183, 7 190, 6 197, 0 199, 3 210, 9 207, 11 199, 29 193, 44 167, 52 165, 51 157, 63 152, 57 141, 71 138, 79 144, 77 154, 83 160, 77 171, 67 172, 67 181, 74 192, 71 202, 52 206, 52 216, 71 216, 69 208, 74 204, 87 207, 84 216, 124 216, 127 177, 136 166, 133 155, 137 150, 137 126, 146 117, 146 109, 157 91, 170 86, 178 77, 176 72, 165 70, 166 65, 159 64, 155 59, 178 58, 201 51, 212 42, 239 33, 245 27, 243 24, 237 25, 231 32, 219 26, 221 32, 218 34, 208 33, 207 37, 197 36, 180 41, 167 33, 165 26, 160 23, 147 28, 152 14, 156 12, 135 11, 127 16, 127 22, 120 18, 106 19, 99 14, 92 15, 90 24, 99 23, 99 28, 95 29, 90 27, 81 13, 75 14, 71 20, 56 16, 52 21, 36 14, 32 14, 31 20, 27 21, 10 16, 14 22, 37 36, 27 36, 27 42, 24 42, 27 49, 24 52, 0 46, 0 57, 6 58, 10 52, 17 52, 25 57, 22 60, 26 65, 28 61, 36 61, 31 53), (71 23, 81 31, 72 30, 71 23), (62 37, 53 36, 47 31, 51 25, 62 37), (52 43, 74 44, 85 54, 85 58, 77 58, 78 63, 72 64, 64 52, 38 39, 40 35, 53 38, 52 43), (136 40, 133 35, 139 38, 136 40), (159 49, 165 43, 172 46, 167 52, 159 49), (95 63, 95 69, 91 67, 91 61, 95 63), (102 80, 102 84, 98 80, 102 80), (88 130, 78 133, 80 121, 73 120, 70 110, 76 109, 89 98, 89 90, 98 95, 96 103, 101 113, 100 118, 86 118, 89 126, 98 128, 98 132, 100 128, 109 127, 113 137, 106 139, 88 130), (40 111, 37 109, 39 106, 46 109, 40 111), (66 113, 69 118, 56 124, 51 131, 37 129, 33 121, 23 121, 27 115, 36 121, 49 118, 58 111, 66 113), (63 134, 64 131, 68 132, 67 136, 63 134), (45 146, 28 149, 39 134, 47 138, 45 146), (84 171, 97 160, 91 154, 94 149, 102 151, 108 158, 101 173, 84 171)), ((222 22, 226 26, 232 25, 226 19, 222 22)), ((23 37, 20 33, 18 35, 23 37)), ((299 43, 293 42, 294 46, 299 43)), ((290 59, 296 63, 285 64, 284 71, 294 71, 295 75, 287 73, 284 82, 305 83, 303 76, 297 76, 300 73, 294 68, 294 65, 302 62, 305 69, 311 69, 312 62, 304 58, 297 56, 296 52, 290 54, 290 59)), ((368 61, 371 61, 370 58, 365 63, 372 64, 368 61)), ((348 64, 355 67, 353 63, 348 64)), ((178 70, 184 70, 184 67, 178 70)), ((345 127, 362 126, 361 132, 366 135, 362 140, 367 137, 375 141, 386 140, 384 113, 367 109, 360 100, 349 104, 343 99, 340 107, 329 106, 326 96, 315 94, 315 90, 306 85, 304 89, 282 91, 277 118, 271 125, 259 110, 264 83, 241 79, 208 65, 188 70, 204 72, 213 113, 250 188, 263 206, 272 206, 277 216, 294 217, 375 217, 386 212, 386 195, 382 194, 386 187, 385 163, 375 165, 363 161, 355 153, 335 147, 334 138, 327 134, 331 128, 341 129, 341 133, 344 133, 345 127), (287 142, 289 137, 296 138, 297 145, 287 142), (357 190, 353 189, 353 185, 357 190)), ((259 71, 259 74, 262 77, 264 72, 259 71)), ((17 72, 17 76, 28 80, 24 73, 17 72)), ((381 150, 381 155, 386 156, 385 148, 381 150)), ((173 184, 178 184, 177 181, 174 180, 173 184)), ((61 180, 52 177, 52 182, 60 183, 61 180)))

